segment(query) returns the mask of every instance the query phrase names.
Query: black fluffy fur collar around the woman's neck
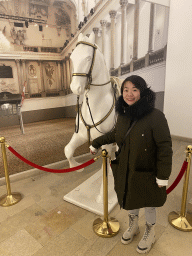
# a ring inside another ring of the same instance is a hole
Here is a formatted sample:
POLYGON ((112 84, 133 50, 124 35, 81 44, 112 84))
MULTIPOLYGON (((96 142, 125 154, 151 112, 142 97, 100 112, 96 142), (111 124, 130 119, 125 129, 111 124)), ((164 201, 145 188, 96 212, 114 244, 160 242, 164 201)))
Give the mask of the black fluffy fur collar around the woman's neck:
POLYGON ((141 99, 129 106, 121 95, 116 102, 116 112, 119 115, 130 117, 131 120, 141 119, 143 116, 149 114, 155 106, 155 93, 150 89, 143 92, 141 99))

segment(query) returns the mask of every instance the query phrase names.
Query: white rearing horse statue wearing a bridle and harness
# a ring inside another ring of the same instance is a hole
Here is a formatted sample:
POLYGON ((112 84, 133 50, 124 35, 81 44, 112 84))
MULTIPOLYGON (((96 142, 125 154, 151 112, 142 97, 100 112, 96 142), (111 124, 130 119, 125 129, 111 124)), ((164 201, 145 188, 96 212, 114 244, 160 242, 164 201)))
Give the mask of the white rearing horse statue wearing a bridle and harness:
MULTIPOLYGON (((88 139, 93 140, 111 131, 116 122, 117 91, 115 92, 111 82, 112 80, 114 82, 115 78, 110 78, 104 56, 94 42, 94 33, 91 33, 89 38, 80 34, 77 46, 70 57, 73 63, 71 90, 78 96, 83 95, 80 113, 76 117, 77 131, 64 149, 70 167, 79 165, 73 158, 77 147, 88 139)), ((117 78, 115 82, 120 84, 117 78)), ((120 88, 118 90, 120 91, 120 88)), ((111 155, 112 145, 104 145, 102 149, 106 149, 111 155)), ((101 195, 97 201, 99 202, 100 199, 102 201, 101 195)))

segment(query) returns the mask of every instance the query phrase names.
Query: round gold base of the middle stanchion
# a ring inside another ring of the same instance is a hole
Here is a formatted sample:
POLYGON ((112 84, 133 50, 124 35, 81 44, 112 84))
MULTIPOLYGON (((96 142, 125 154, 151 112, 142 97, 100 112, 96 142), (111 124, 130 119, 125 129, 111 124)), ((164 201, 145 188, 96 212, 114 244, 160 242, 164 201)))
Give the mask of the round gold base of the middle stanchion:
POLYGON ((93 222, 94 232, 101 237, 113 237, 117 235, 119 228, 119 222, 115 218, 109 218, 108 222, 98 218, 93 222))

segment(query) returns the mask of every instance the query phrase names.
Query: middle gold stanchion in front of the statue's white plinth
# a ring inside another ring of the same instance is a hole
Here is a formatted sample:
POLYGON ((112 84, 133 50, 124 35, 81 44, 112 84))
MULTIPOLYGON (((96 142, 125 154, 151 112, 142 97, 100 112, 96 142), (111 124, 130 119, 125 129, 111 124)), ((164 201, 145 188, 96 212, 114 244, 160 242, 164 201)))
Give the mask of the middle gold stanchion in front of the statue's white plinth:
POLYGON ((103 157, 103 206, 104 220, 101 218, 93 222, 94 232, 101 237, 113 237, 119 232, 119 222, 115 218, 108 218, 108 172, 107 151, 102 150, 103 157))

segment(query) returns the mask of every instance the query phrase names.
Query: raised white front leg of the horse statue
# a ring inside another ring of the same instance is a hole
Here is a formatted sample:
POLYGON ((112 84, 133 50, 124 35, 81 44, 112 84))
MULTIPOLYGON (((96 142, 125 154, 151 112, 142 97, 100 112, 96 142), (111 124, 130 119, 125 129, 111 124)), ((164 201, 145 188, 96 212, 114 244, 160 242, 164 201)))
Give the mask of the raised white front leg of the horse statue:
MULTIPOLYGON (((75 167, 78 166, 79 163, 75 161, 73 154, 75 152, 75 149, 81 145, 83 145, 87 141, 86 138, 83 138, 79 136, 79 133, 74 133, 70 142, 65 146, 64 153, 69 161, 70 167, 75 167)), ((81 170, 78 171, 83 171, 84 169, 82 168, 81 170)))

